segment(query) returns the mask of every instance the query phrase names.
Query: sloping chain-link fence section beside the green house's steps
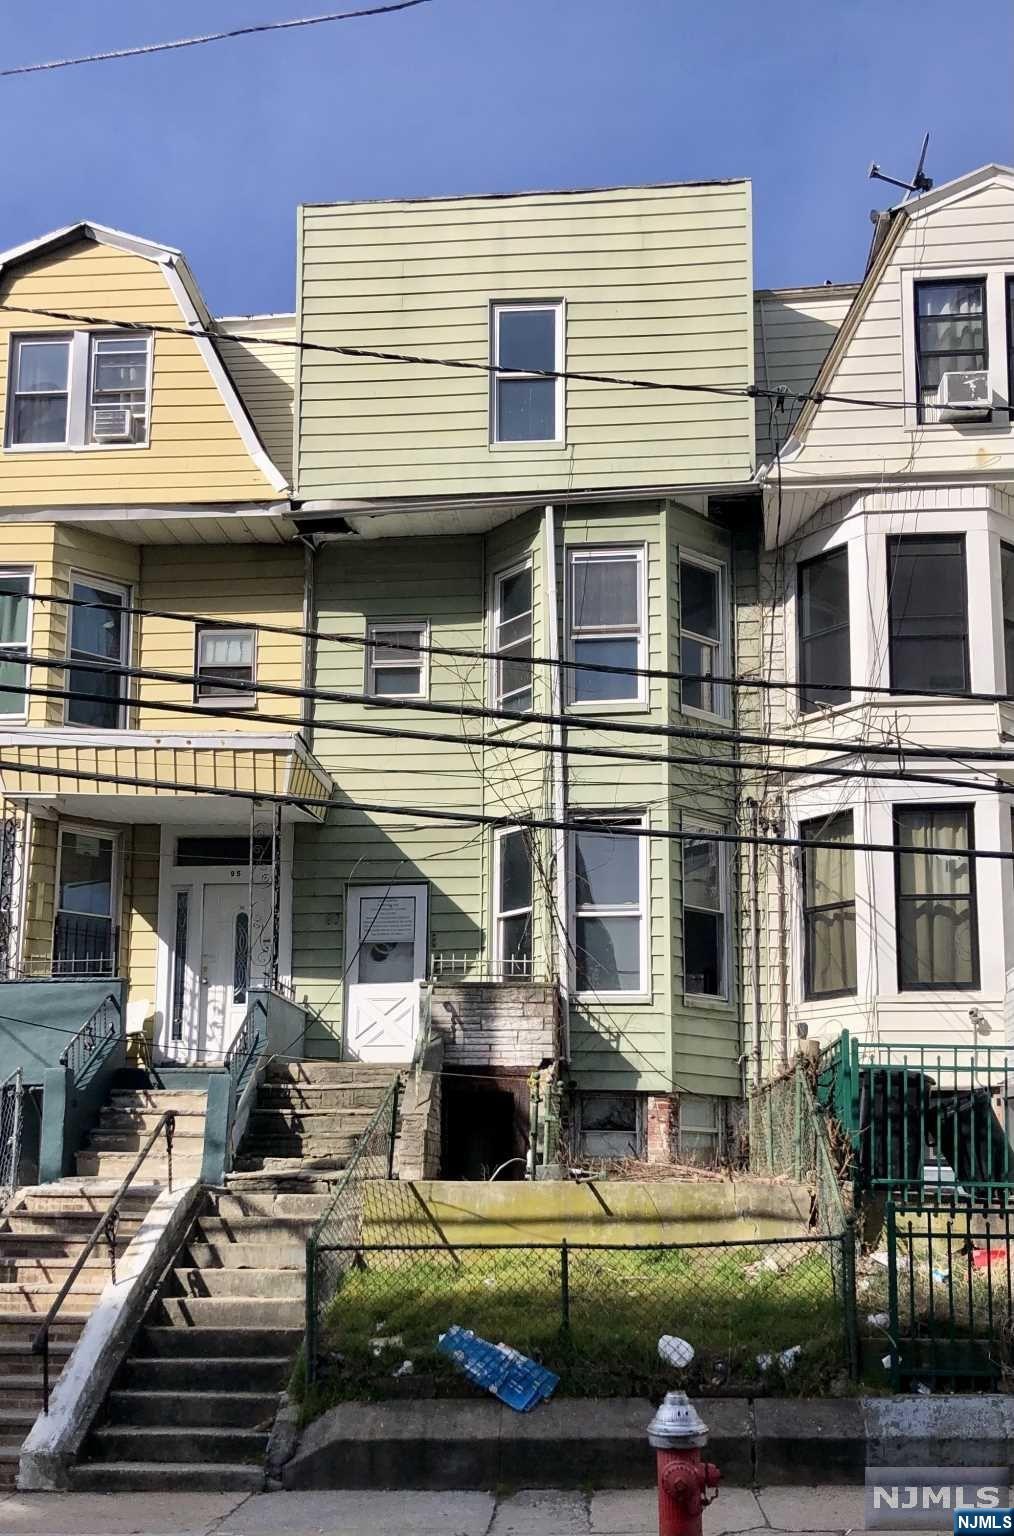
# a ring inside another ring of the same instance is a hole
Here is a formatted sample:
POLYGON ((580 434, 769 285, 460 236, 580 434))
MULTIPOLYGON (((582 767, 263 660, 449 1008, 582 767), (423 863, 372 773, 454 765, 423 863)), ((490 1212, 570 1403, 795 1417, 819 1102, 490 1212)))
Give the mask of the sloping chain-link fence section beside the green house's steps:
POLYGON ((306 1240, 306 1379, 313 1382, 320 1359, 324 1315, 344 1275, 343 1255, 366 1240, 369 1223, 392 1213, 378 1187, 396 1183, 398 1106, 396 1077, 360 1137, 329 1207, 306 1240))

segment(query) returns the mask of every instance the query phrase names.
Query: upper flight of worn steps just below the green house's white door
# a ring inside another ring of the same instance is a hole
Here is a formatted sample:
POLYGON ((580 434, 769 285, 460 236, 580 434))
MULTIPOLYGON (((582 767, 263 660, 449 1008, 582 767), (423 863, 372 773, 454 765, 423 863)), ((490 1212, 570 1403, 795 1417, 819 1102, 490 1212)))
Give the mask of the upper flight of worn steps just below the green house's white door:
POLYGON ((237 1172, 340 1172, 396 1072, 360 1061, 272 1061, 237 1172))

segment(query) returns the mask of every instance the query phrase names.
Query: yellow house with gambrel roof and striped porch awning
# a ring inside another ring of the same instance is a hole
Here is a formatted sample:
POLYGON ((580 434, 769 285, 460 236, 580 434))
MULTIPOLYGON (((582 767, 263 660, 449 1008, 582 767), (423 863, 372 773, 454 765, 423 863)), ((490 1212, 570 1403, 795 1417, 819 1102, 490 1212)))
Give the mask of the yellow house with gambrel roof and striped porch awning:
POLYGON ((126 977, 180 1061, 284 986, 293 825, 332 788, 301 700, 258 697, 306 676, 293 350, 235 332, 293 318, 215 321, 167 246, 0 253, 0 971, 126 977))

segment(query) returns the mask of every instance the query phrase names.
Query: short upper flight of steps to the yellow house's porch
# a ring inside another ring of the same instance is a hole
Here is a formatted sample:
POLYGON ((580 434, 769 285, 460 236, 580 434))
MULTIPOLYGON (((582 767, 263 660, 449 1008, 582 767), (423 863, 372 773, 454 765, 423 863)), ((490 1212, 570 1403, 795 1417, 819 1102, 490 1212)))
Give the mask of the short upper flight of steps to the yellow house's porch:
MULTIPOLYGON (((77 1154, 77 1172, 84 1178, 121 1180, 166 1111, 177 1115, 172 1138, 174 1180, 200 1178, 204 1157, 207 1095, 194 1087, 138 1084, 115 1089, 103 1106, 88 1144, 77 1154)), ((166 1143, 160 1137, 143 1164, 149 1183, 167 1184, 166 1143)))

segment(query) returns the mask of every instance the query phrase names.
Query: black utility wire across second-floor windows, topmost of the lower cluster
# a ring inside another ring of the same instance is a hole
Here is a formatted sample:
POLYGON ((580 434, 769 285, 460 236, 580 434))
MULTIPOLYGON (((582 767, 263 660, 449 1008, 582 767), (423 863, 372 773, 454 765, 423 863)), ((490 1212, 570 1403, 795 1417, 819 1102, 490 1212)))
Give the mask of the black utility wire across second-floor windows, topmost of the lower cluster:
MULTIPOLYGON (((5 593, 5 579, 0 576, 0 596, 5 593)), ((18 591, 17 596, 28 602, 51 602, 58 604, 65 608, 92 608, 101 613, 111 611, 109 602, 95 601, 91 598, 68 598, 63 593, 55 591, 18 591)), ((863 694, 886 694, 888 697, 900 699, 956 699, 968 703, 1014 703, 1014 694, 1009 693, 983 693, 983 691, 963 691, 953 693, 945 688, 903 688, 894 684, 853 684, 853 682, 817 682, 807 680, 794 682, 790 679, 771 679, 771 677, 744 677, 744 676, 722 676, 717 673, 690 673, 676 671, 667 667, 618 667, 610 662, 578 662, 568 657, 555 656, 513 656, 507 651, 492 651, 472 647, 459 645, 430 645, 427 642, 415 641, 398 641, 393 636, 384 637, 378 642, 369 634, 350 634, 344 630, 318 630, 318 628, 301 628, 295 624, 270 624, 266 619, 223 619, 221 616, 189 613, 181 608, 147 608, 138 607, 135 604, 117 604, 115 613, 123 613, 131 619, 167 619, 177 624, 192 624, 200 628, 207 630, 254 630, 258 634, 283 634, 289 639, 297 641, 313 641, 315 644, 330 644, 330 645, 358 645, 361 650, 372 650, 376 645, 383 645, 387 651, 404 651, 407 656, 435 656, 447 659, 462 659, 462 660, 487 660, 487 662, 502 662, 502 660, 519 660, 532 667, 559 667, 564 671, 575 673, 607 673, 619 677, 645 677, 651 682, 693 682, 693 684, 708 684, 716 688, 757 688, 760 691, 787 691, 787 693, 805 693, 814 688, 836 688, 839 693, 863 693, 863 694)), ((390 621, 398 624, 396 619, 390 621)), ((384 621, 378 621, 376 628, 384 628, 384 621)), ((820 710, 807 711, 808 719, 819 719, 820 710)), ((582 719, 575 714, 573 720, 582 719)))

